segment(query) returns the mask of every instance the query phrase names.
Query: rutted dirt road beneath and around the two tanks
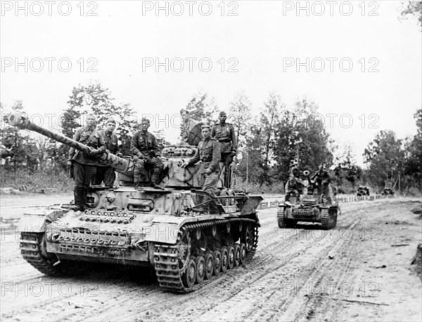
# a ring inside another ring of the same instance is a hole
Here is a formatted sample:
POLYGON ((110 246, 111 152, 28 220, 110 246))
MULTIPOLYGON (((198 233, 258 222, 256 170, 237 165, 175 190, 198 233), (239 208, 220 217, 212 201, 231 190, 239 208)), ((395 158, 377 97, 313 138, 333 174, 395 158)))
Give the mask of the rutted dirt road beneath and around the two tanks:
POLYGON ((262 210, 252 263, 186 295, 160 290, 148 269, 44 276, 20 257, 18 236, 2 234, 1 320, 421 321, 422 285, 410 265, 422 238, 415 206, 345 203, 328 232, 279 229, 276 209, 262 210))

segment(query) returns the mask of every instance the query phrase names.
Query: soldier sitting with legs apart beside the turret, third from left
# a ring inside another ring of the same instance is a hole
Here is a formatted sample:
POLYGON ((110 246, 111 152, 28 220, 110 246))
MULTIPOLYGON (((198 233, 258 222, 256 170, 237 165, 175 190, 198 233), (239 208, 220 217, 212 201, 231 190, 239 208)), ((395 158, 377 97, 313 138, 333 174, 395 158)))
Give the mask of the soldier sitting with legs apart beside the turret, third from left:
POLYGON ((153 167, 153 175, 151 177, 151 187, 162 189, 160 183, 160 175, 164 165, 161 161, 161 152, 158 147, 157 139, 148 132, 150 121, 142 119, 141 130, 136 132, 130 142, 130 151, 135 161, 134 185, 140 187, 141 173, 145 166, 153 167))

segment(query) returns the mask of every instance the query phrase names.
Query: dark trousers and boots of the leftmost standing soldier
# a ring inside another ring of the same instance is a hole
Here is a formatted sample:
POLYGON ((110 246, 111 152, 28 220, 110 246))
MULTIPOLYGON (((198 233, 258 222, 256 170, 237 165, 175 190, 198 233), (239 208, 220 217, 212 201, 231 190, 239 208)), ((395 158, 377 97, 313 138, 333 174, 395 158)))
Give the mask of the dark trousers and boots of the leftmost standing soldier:
POLYGON ((73 194, 75 197, 75 205, 79 207, 79 210, 84 210, 85 208, 89 184, 95 177, 95 174, 96 166, 88 166, 77 162, 73 163, 73 177, 75 178, 73 194))

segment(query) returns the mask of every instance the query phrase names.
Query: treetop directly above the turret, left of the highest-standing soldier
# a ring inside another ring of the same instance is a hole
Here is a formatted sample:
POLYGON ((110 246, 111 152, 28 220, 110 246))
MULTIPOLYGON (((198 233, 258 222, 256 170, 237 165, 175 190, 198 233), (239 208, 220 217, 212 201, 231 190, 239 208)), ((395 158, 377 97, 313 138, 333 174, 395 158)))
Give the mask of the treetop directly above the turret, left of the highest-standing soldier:
POLYGON ((191 118, 212 125, 215 121, 215 114, 217 113, 217 105, 214 102, 213 98, 203 92, 203 90, 198 90, 197 93, 193 95, 188 105, 186 105, 186 110, 191 115, 191 118))

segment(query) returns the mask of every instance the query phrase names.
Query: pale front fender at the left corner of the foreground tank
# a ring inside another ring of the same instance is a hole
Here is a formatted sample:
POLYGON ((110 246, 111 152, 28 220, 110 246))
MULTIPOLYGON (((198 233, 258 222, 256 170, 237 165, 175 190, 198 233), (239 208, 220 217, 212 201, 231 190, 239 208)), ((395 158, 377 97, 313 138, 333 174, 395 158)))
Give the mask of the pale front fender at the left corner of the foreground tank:
POLYGON ((18 232, 45 232, 46 224, 58 220, 68 210, 62 209, 36 209, 24 213, 18 223, 18 232))

